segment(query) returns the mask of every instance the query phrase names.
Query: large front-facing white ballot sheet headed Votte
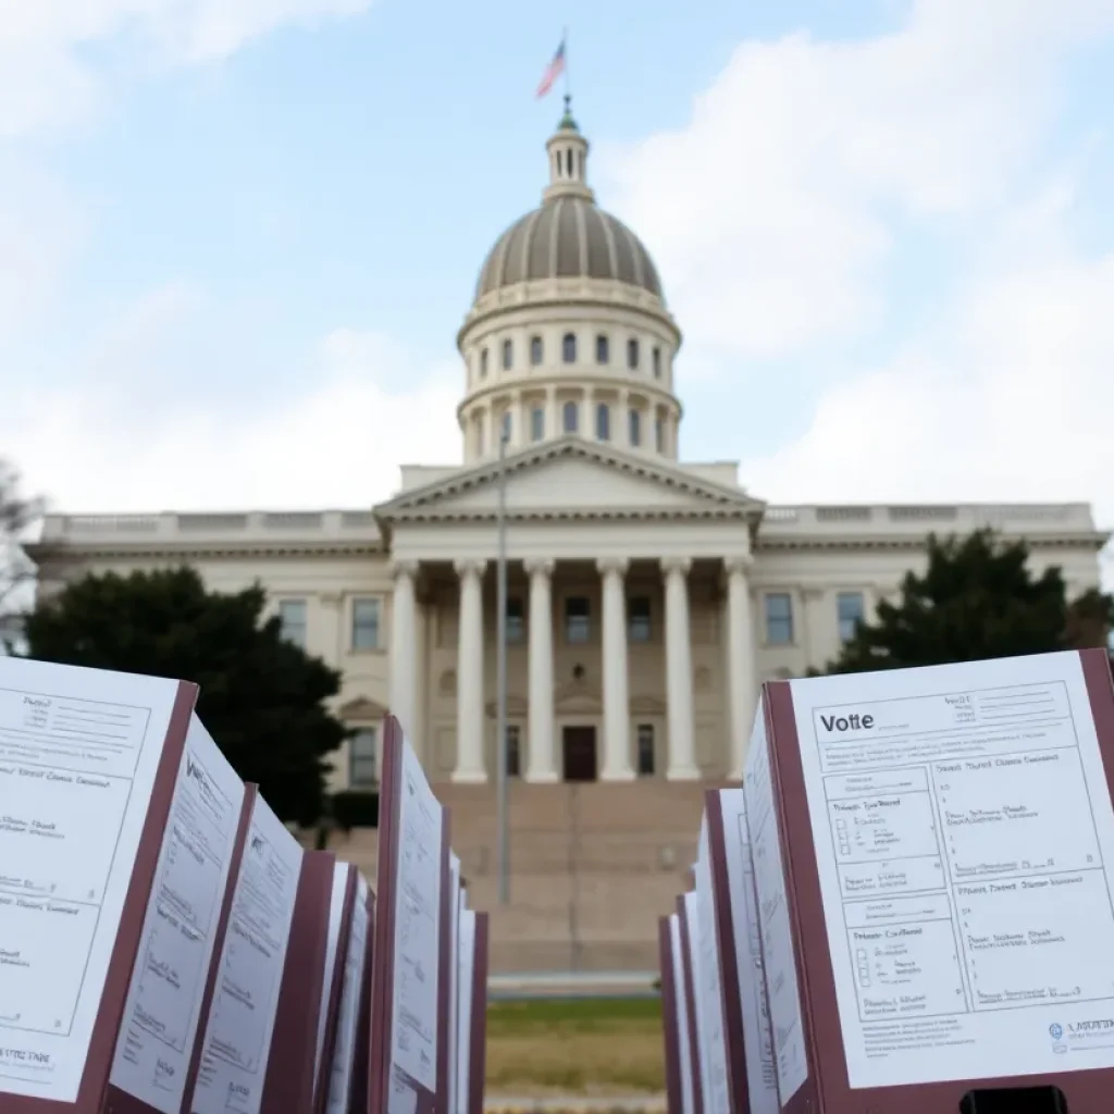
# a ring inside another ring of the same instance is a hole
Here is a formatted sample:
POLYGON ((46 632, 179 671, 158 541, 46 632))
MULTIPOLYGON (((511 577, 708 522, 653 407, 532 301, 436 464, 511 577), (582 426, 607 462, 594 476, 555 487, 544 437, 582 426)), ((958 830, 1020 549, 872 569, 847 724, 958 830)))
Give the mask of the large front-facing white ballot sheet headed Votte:
POLYGON ((851 1086, 1114 1067, 1114 811, 1079 655, 790 691, 851 1086))

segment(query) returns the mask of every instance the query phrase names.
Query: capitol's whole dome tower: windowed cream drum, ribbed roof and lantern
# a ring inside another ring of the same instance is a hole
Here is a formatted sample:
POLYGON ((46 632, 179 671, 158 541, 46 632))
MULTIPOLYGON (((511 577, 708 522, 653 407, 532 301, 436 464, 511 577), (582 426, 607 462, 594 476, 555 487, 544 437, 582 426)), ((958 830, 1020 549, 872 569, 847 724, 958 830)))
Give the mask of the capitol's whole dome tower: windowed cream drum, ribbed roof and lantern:
POLYGON ((676 460, 681 330, 642 241, 596 205, 567 96, 546 159, 541 204, 488 252, 457 331, 465 463, 570 437, 676 460))

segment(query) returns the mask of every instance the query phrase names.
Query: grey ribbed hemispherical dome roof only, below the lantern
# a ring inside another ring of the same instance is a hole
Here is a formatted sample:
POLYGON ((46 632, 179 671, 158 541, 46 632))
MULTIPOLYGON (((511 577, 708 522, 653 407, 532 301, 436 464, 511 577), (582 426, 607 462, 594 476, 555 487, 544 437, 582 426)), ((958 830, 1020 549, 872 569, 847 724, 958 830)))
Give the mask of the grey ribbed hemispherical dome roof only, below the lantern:
POLYGON ((483 261, 476 296, 538 278, 605 278, 662 297, 657 268, 642 241, 589 198, 575 195, 548 198, 499 237, 483 261))

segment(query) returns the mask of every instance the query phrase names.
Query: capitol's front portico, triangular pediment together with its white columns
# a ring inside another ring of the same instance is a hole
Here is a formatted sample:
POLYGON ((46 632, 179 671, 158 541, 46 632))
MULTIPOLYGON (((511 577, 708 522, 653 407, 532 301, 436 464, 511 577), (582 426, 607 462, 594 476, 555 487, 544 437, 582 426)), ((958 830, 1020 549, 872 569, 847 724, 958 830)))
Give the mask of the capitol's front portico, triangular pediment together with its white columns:
MULTIPOLYGON (((395 554, 392 711, 459 783, 496 772, 497 480, 480 465, 377 508, 395 554), (423 654, 416 633, 430 626, 423 654), (441 711, 418 707, 418 692, 440 694, 441 711)), ((756 687, 747 573, 761 504, 580 439, 515 453, 506 483, 511 773, 698 780, 701 720, 730 735, 726 764, 740 765, 756 687), (722 681, 710 686, 711 672, 722 681)))

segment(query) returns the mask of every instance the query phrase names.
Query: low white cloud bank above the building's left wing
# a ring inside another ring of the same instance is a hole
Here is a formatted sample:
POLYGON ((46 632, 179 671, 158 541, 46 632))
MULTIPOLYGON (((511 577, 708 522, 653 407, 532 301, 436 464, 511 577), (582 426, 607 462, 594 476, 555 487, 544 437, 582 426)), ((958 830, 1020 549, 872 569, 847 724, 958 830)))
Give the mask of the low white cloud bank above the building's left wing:
MULTIPOLYGON (((145 339, 118 351, 149 355, 150 314, 134 320, 145 339)), ((422 367, 387 338, 339 330, 302 398, 234 412, 184 387, 155 404, 136 401, 127 375, 108 391, 90 375, 85 389, 17 390, 0 444, 27 489, 68 512, 367 507, 398 488, 401 461, 459 462, 459 378, 455 364, 422 367)))

